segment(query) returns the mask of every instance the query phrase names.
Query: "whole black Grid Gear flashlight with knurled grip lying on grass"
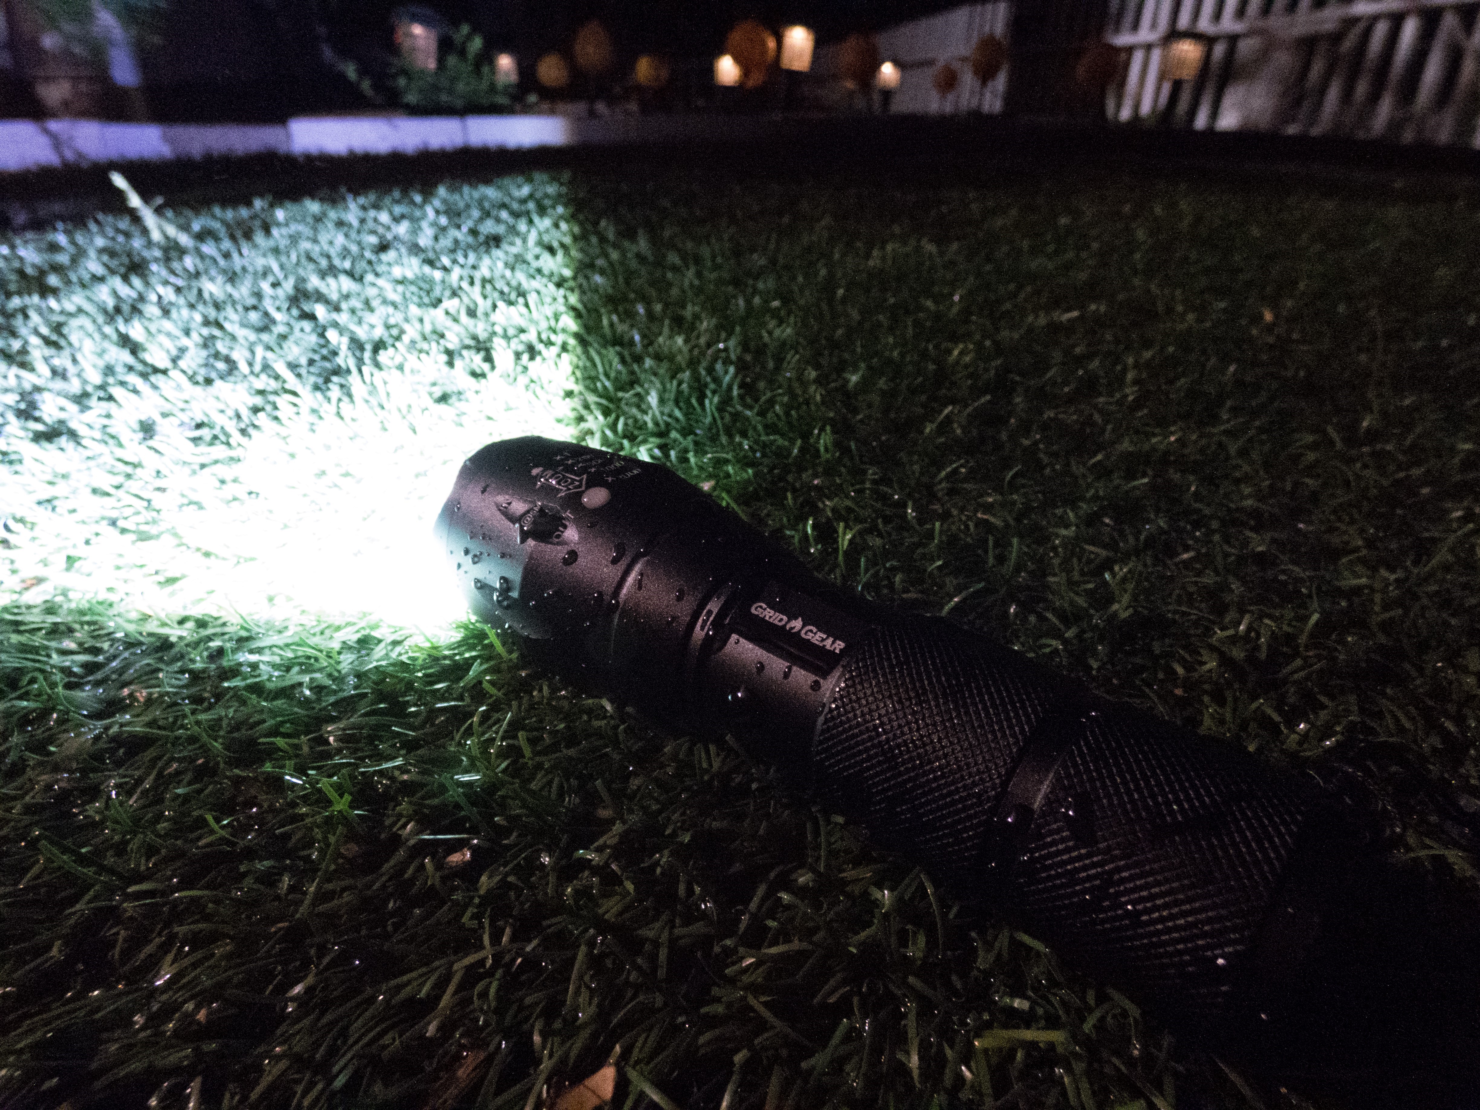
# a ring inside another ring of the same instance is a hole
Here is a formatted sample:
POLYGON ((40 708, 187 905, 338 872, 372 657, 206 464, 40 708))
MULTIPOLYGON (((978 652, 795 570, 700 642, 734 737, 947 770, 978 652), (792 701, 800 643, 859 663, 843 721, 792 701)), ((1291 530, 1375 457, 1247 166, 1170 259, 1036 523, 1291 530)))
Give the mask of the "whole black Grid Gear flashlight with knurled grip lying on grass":
POLYGON ((1314 780, 839 591, 654 463, 494 443, 437 530, 472 613, 543 665, 734 736, 1221 1054, 1476 1106, 1474 910, 1314 780))

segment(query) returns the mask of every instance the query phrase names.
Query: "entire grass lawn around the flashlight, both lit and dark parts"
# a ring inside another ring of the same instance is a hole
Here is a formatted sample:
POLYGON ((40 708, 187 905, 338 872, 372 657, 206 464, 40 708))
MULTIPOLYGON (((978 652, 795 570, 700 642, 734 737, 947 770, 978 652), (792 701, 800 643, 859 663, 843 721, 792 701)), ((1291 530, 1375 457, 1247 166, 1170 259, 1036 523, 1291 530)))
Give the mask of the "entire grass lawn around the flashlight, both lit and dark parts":
POLYGON ((488 440, 662 460, 1480 884, 1477 241, 1450 185, 632 169, 0 238, 0 1106, 1258 1106, 423 537, 488 440))

